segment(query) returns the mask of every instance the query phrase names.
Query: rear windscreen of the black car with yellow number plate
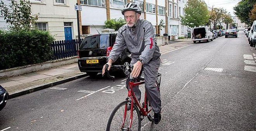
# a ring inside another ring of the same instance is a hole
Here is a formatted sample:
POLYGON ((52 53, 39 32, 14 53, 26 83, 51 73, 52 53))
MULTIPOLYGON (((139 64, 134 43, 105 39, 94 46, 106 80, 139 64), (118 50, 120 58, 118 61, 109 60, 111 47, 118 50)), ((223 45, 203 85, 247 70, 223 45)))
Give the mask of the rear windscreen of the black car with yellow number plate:
POLYGON ((109 46, 109 35, 95 35, 86 37, 81 43, 80 49, 100 49, 109 46))

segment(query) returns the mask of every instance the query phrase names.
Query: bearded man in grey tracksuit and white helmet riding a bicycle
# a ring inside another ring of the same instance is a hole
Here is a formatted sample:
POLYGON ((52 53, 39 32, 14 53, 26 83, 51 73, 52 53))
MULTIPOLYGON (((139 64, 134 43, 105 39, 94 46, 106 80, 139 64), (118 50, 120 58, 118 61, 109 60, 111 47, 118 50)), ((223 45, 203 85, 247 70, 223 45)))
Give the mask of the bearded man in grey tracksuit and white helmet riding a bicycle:
MULTIPOLYGON (((155 43, 155 32, 152 24, 144 19, 140 19, 141 8, 136 3, 127 3, 121 11, 125 17, 126 24, 120 27, 116 42, 109 54, 108 71, 111 64, 115 62, 119 54, 127 47, 131 52, 131 65, 133 70, 131 76, 137 78, 141 70, 144 71, 145 91, 150 106, 154 111, 154 123, 161 121, 161 99, 160 91, 157 89, 155 82, 160 66, 159 47, 155 43)), ((102 69, 105 74, 106 64, 102 69)), ((141 92, 138 87, 133 88, 135 95, 140 101, 141 92)))

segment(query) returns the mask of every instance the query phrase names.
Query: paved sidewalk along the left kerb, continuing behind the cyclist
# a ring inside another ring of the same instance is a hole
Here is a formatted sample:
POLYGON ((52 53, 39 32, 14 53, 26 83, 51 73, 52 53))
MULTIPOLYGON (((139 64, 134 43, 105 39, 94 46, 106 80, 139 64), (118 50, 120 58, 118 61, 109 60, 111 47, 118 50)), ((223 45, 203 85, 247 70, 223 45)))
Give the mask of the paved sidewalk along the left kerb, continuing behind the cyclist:
MULTIPOLYGON (((168 44, 161 45, 159 48, 163 54, 192 43, 193 41, 191 39, 169 40, 168 44)), ((0 79, 0 85, 7 90, 10 99, 85 76, 87 74, 80 72, 78 64, 73 63, 19 76, 4 77, 0 79)))

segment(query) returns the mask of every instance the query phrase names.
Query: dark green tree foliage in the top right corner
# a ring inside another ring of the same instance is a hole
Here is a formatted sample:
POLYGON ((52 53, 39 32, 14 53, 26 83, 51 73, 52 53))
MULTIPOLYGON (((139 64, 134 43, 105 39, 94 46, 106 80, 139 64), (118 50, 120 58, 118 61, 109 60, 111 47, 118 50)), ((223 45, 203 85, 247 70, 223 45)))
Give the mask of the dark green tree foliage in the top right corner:
POLYGON ((251 25, 253 20, 250 20, 251 10, 256 0, 242 0, 233 8, 235 10, 235 15, 241 20, 242 23, 251 25))

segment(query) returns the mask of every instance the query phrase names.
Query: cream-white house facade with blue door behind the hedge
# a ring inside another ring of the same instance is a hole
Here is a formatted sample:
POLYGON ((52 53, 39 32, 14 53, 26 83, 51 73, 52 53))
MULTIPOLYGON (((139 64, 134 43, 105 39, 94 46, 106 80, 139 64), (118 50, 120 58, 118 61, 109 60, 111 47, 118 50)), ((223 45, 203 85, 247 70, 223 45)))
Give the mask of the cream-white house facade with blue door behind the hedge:
MULTIPOLYGON (((38 14, 36 26, 39 30, 48 30, 55 40, 76 39, 78 35, 75 0, 29 0, 31 12, 38 14)), ((9 0, 3 0, 9 4, 9 0)), ((0 17, 0 29, 7 29, 3 17, 0 17)))

